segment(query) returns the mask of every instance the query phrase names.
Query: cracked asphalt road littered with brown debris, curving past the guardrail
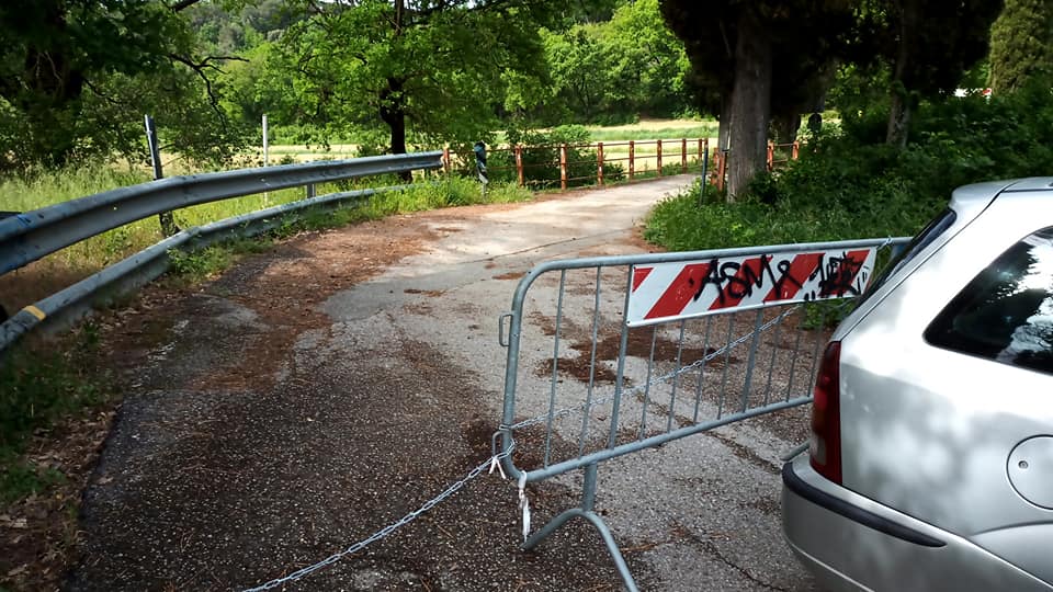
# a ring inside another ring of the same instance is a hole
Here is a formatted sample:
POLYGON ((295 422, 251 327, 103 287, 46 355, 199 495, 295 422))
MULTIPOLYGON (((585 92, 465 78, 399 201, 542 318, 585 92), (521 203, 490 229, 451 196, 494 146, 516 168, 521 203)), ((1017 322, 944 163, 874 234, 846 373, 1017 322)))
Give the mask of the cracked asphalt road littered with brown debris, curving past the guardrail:
MULTIPOLYGON (((497 321, 518 278, 550 259, 643 252, 634 228, 691 181, 297 237, 129 312, 114 351, 129 392, 86 492, 84 553, 68 587, 247 589, 419 509, 490 454, 506 355, 497 321)), ((552 294, 539 286, 536 297, 552 294)), ((542 335, 546 322, 531 321, 542 335)), ((546 408, 534 368, 546 355, 522 362, 523 417, 546 408)), ((803 439, 803 418, 723 428, 601 465, 598 510, 641 589, 813 589, 779 527, 778 457, 803 439)), ((530 446, 524 440, 519 463, 539 454, 530 446)), ((580 476, 528 493, 536 530, 578 503, 580 476)), ((584 523, 519 550, 517 504, 514 483, 484 473, 386 537, 283 585, 621 588, 584 523)))

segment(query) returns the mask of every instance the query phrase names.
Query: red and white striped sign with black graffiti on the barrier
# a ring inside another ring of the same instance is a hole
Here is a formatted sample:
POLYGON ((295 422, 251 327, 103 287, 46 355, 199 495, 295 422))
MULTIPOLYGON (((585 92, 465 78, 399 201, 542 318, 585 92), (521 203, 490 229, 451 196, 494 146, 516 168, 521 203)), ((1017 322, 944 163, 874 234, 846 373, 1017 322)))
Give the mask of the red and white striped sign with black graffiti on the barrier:
POLYGON ((634 265, 630 327, 771 304, 862 294, 875 249, 766 253, 709 261, 634 265))

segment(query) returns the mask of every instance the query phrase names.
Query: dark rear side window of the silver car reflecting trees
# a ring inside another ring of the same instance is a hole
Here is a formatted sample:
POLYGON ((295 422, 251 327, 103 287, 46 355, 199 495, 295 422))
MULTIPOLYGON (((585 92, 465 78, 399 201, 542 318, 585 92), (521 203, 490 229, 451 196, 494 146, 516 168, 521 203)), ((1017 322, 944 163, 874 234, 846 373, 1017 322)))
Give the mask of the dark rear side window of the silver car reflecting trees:
POLYGON ((1053 374, 1053 227, 999 255, 937 316, 925 339, 1053 374))

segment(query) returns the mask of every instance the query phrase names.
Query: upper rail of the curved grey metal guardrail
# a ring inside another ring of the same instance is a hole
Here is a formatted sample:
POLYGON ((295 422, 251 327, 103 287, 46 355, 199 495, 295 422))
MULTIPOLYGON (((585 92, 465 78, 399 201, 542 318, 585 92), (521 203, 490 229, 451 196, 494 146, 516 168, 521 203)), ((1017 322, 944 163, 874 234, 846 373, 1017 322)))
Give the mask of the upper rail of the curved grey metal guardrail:
POLYGON ((0 219, 0 275, 148 216, 265 191, 417 169, 442 168, 442 152, 388 155, 171 177, 0 219))

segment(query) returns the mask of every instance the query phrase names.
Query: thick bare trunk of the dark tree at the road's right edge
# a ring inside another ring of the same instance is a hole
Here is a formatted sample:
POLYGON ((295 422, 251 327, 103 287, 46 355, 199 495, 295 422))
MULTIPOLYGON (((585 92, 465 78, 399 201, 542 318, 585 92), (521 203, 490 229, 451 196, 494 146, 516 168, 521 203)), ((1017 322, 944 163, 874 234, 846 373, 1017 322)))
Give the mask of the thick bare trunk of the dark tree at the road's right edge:
POLYGON ((735 84, 732 90, 732 152, 728 160, 727 201, 746 191, 765 170, 768 121, 771 118, 771 37, 750 10, 744 10, 735 44, 735 84))

